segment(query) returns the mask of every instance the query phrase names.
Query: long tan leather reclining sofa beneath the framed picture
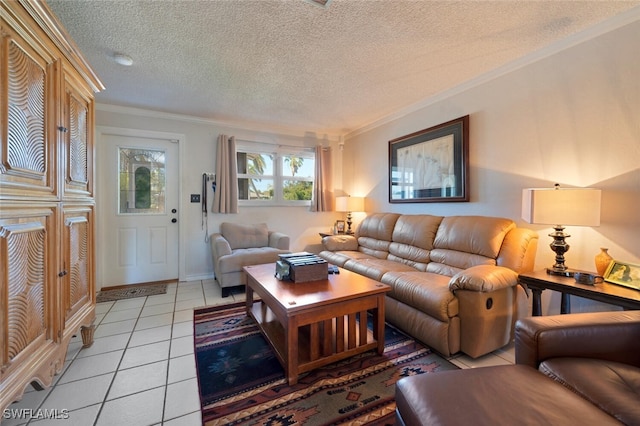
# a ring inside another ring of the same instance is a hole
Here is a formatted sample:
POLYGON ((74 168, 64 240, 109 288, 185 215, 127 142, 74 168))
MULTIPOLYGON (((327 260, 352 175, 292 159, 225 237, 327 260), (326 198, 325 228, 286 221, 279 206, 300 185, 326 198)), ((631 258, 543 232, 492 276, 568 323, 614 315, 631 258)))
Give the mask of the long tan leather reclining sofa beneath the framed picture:
POLYGON ((538 234, 510 219, 374 213, 323 238, 328 262, 391 286, 387 320, 445 356, 478 357, 513 339, 528 310, 520 272, 538 234))

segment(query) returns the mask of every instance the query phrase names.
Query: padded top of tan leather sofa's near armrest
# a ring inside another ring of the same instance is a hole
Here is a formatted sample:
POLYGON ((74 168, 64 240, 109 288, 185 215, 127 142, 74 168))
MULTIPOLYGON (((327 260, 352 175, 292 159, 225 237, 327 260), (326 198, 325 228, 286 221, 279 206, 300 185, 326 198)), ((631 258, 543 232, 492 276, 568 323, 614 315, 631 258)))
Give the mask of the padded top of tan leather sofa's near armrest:
POLYGON ((477 265, 460 271, 449 280, 449 290, 491 292, 518 284, 518 274, 509 268, 477 265))

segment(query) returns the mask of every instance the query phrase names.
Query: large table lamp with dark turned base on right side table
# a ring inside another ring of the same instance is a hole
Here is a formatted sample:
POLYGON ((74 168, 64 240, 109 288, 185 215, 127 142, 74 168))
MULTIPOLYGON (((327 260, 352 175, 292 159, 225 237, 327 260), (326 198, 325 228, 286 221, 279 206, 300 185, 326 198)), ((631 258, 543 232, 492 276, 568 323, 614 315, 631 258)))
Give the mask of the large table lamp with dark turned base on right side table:
POLYGON ((599 226, 600 190, 594 188, 528 188, 522 190, 522 219, 527 223, 554 225, 549 245, 556 254, 556 263, 547 268, 552 275, 573 276, 564 264, 569 250, 563 225, 599 226), (561 224, 561 225, 560 225, 561 224))

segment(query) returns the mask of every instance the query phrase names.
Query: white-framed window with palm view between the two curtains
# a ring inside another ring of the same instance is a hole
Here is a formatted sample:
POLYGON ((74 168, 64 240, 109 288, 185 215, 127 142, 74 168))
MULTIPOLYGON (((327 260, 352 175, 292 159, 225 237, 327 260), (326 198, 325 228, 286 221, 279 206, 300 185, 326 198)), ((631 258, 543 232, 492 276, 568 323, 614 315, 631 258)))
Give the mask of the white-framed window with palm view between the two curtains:
POLYGON ((310 205, 313 150, 242 144, 236 158, 241 205, 310 205))

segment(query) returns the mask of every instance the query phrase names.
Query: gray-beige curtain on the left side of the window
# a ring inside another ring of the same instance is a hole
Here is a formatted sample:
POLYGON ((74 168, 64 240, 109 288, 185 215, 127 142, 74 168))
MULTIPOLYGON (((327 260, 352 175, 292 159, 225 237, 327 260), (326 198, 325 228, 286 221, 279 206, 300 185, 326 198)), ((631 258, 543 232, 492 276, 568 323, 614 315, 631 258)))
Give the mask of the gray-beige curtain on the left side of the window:
POLYGON ((218 136, 216 155, 216 190, 212 213, 238 213, 238 167, 236 140, 233 136, 218 136))

